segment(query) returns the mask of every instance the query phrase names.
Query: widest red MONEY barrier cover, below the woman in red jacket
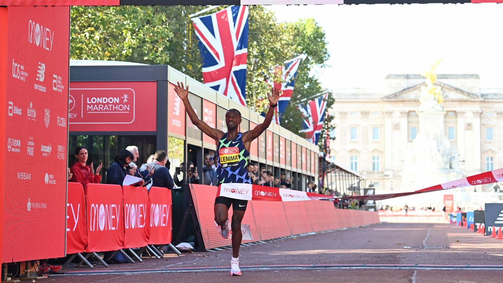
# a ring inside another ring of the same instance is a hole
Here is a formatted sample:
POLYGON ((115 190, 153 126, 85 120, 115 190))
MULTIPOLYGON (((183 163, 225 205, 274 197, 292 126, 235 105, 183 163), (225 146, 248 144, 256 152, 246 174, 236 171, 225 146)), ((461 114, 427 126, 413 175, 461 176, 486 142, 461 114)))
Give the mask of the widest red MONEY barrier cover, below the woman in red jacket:
POLYGON ((88 184, 86 186, 88 220, 86 252, 122 249, 124 245, 124 214, 122 211, 121 186, 105 184, 88 184))

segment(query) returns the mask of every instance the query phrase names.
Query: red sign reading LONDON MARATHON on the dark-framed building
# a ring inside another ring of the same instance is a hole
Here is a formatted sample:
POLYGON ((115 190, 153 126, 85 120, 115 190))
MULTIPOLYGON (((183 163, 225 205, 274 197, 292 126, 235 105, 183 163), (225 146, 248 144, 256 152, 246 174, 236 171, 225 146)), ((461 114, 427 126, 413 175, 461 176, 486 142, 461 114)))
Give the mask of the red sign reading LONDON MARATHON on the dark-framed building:
POLYGON ((68 104, 70 131, 156 130, 156 82, 71 82, 68 104))

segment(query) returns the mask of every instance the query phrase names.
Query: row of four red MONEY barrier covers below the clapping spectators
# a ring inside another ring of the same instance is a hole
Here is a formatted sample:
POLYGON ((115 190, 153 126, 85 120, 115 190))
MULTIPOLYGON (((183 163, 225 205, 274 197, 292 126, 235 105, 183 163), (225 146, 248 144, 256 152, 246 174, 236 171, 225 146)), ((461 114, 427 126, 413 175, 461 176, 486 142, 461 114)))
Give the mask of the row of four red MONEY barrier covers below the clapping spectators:
POLYGON ((68 183, 67 255, 168 245, 172 197, 166 188, 68 183), (84 211, 86 209, 86 211, 84 211))

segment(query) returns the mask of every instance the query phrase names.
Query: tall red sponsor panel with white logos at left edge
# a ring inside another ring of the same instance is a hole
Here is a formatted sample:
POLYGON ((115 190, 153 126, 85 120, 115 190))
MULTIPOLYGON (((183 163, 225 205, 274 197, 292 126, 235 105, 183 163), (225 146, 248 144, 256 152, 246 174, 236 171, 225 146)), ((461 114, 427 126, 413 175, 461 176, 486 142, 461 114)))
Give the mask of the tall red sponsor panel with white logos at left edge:
POLYGON ((3 261, 65 254, 69 16, 8 8, 3 261))

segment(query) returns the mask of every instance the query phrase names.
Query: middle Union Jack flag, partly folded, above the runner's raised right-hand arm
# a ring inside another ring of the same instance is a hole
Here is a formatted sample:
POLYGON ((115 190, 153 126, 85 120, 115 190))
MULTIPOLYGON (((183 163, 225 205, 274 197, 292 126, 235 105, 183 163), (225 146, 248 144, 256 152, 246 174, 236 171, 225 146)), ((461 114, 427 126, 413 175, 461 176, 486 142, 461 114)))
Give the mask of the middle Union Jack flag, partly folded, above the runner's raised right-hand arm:
POLYGON ((299 69, 300 61, 302 58, 295 59, 286 63, 284 66, 277 66, 274 69, 275 76, 281 76, 281 81, 273 81, 271 85, 275 88, 281 89, 280 99, 278 106, 274 109, 273 121, 280 124, 281 116, 285 112, 288 103, 292 99, 293 89, 295 87, 295 78, 297 77, 297 70, 299 69))

